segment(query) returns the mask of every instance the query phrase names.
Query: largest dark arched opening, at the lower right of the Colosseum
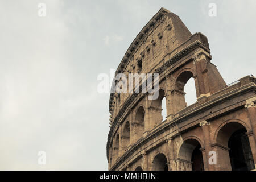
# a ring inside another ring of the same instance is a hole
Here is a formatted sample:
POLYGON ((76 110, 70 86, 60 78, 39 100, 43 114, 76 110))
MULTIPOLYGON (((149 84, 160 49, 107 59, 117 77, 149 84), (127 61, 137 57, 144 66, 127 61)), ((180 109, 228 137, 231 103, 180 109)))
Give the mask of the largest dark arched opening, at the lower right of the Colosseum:
MULTIPOLYGON (((217 135, 217 143, 228 149, 222 152, 222 168, 233 171, 250 171, 255 169, 253 154, 246 128, 238 122, 224 125, 217 135)), ((220 150, 218 148, 218 150, 220 150)))

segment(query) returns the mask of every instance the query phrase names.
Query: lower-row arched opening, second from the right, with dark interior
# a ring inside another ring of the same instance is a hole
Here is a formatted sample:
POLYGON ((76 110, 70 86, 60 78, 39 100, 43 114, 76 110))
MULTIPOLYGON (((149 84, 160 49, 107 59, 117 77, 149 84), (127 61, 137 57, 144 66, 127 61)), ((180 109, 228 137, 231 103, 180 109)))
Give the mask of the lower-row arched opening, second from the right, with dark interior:
POLYGON ((201 144, 196 139, 183 142, 179 151, 178 168, 183 171, 204 171, 201 144))

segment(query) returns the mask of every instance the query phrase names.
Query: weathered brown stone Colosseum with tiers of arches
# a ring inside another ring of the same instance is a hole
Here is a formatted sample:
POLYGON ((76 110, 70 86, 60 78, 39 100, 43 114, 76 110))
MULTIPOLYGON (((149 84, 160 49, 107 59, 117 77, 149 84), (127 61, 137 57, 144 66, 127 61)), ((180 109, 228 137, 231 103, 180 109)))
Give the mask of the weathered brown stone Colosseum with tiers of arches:
MULTIPOLYGON (((226 85, 211 60, 205 35, 192 35, 166 9, 153 16, 115 75, 158 73, 159 96, 150 100, 150 93, 110 94, 109 170, 255 169, 256 79, 249 75, 226 85), (196 102, 187 106, 184 86, 190 78, 196 102)), ((113 85, 120 81, 114 79, 113 85)))

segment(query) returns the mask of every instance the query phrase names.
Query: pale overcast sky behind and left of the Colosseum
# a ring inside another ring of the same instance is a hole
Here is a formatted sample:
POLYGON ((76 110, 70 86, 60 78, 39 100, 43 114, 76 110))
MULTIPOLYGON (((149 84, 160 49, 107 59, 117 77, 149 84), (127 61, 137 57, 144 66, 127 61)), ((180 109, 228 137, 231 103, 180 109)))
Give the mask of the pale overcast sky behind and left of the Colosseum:
POLYGON ((227 84, 256 75, 255 0, 0 1, 0 169, 108 169, 109 94, 97 76, 118 67, 160 7, 208 37, 227 84))

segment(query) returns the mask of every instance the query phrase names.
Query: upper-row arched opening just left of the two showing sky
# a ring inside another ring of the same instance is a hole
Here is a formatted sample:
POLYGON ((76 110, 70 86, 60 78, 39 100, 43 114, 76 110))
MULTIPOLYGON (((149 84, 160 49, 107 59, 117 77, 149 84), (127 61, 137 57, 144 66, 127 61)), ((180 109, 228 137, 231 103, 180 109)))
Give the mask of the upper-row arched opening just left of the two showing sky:
POLYGON ((145 117, 145 111, 144 108, 141 106, 137 110, 137 113, 135 115, 135 122, 134 122, 134 135, 136 138, 141 138, 144 132, 144 117, 145 117))

